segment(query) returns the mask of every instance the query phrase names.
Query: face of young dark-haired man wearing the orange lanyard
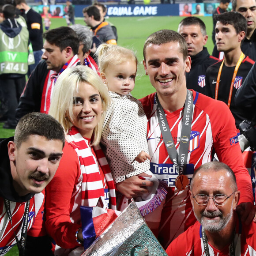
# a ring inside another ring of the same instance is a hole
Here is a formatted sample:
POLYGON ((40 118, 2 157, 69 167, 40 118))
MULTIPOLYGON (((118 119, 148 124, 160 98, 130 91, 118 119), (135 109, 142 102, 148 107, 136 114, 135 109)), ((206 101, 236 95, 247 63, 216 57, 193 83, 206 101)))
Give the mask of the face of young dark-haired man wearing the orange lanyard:
POLYGON ((237 34, 235 28, 226 24, 223 25, 219 21, 217 21, 215 26, 215 40, 218 51, 229 52, 233 49, 237 49, 241 47, 241 41, 245 37, 245 32, 242 31, 237 34))

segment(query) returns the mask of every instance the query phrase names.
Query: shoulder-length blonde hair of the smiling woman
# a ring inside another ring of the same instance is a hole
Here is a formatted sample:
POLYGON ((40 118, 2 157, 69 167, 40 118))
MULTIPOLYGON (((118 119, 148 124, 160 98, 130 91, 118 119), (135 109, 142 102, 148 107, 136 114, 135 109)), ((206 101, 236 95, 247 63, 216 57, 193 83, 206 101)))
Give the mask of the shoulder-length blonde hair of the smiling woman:
POLYGON ((58 78, 54 90, 49 114, 53 116, 64 127, 66 135, 75 120, 73 114, 73 98, 79 92, 81 83, 88 83, 98 90, 102 100, 102 117, 94 128, 94 140, 91 145, 97 145, 102 135, 102 125, 105 120, 105 112, 110 104, 107 88, 102 83, 100 77, 91 68, 83 65, 75 68, 67 68, 58 78))

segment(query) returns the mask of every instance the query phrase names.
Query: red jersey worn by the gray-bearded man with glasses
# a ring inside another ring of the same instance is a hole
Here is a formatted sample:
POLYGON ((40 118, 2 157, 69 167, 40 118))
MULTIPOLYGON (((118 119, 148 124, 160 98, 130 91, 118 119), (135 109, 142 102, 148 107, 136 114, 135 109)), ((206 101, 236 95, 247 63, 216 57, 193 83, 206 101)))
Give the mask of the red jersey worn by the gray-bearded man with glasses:
MULTIPOLYGON (((235 215, 237 216, 237 215, 235 215)), ((199 222, 191 226, 187 231, 177 237, 167 248, 168 256, 205 256, 202 227, 199 222)), ((256 255, 256 224, 251 222, 249 226, 242 225, 237 218, 236 234, 234 236, 234 249, 236 256, 256 255)), ((229 256, 230 244, 222 250, 218 250, 208 243, 210 256, 229 256)))

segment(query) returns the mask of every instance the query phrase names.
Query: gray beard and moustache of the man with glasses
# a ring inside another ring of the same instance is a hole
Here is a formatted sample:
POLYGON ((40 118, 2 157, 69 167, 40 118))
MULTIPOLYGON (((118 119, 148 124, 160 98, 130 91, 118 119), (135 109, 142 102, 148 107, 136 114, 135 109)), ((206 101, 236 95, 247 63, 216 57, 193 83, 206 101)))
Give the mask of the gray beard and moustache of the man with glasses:
MULTIPOLYGON (((195 211, 194 211, 195 214, 195 211)), ((204 227, 205 230, 209 231, 209 232, 219 232, 221 230, 223 230, 226 225, 229 223, 231 217, 233 216, 233 202, 232 202, 232 206, 231 206, 231 211, 228 215, 226 215, 226 217, 223 217, 222 212, 221 211, 214 211, 214 212, 207 212, 204 211, 200 216, 196 216, 196 219, 198 220, 198 222, 200 222, 200 224, 204 227), (219 217, 218 220, 211 220, 211 219, 206 219, 205 217, 219 217)))

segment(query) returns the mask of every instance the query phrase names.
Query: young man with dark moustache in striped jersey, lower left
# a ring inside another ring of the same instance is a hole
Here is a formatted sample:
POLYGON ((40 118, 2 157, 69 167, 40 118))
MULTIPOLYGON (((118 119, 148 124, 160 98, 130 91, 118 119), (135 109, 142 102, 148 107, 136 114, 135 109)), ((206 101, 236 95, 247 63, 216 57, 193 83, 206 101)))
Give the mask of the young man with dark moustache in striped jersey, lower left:
POLYGON ((1 256, 15 244, 24 255, 27 230, 42 215, 44 188, 56 173, 64 143, 62 126, 42 113, 26 114, 14 138, 0 142, 1 256))

